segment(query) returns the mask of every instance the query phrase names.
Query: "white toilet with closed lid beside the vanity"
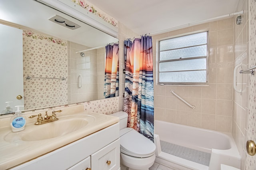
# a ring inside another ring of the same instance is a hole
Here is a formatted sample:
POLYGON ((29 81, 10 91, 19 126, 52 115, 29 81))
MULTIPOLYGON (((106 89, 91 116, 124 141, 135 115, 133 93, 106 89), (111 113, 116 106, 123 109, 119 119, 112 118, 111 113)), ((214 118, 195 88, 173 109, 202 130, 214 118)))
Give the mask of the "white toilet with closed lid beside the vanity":
MULTIPOLYGON (((120 119, 120 162, 128 170, 148 170, 155 161, 156 145, 132 128, 127 128, 128 114, 117 112, 111 116, 120 119)), ((122 170, 122 169, 121 169, 122 170)))

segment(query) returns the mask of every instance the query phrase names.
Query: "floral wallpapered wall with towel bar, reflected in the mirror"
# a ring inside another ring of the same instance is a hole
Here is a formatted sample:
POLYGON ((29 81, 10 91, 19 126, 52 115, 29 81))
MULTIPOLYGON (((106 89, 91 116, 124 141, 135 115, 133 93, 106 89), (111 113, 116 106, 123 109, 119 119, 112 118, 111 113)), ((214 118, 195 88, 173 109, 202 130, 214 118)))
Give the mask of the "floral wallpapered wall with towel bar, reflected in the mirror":
POLYGON ((23 31, 24 109, 65 105, 67 99, 67 42, 23 31), (30 79, 26 79, 30 76, 30 79), (33 78, 42 77, 42 78, 33 78), (44 79, 44 78, 49 79, 44 79), (51 79, 51 78, 62 78, 51 79))

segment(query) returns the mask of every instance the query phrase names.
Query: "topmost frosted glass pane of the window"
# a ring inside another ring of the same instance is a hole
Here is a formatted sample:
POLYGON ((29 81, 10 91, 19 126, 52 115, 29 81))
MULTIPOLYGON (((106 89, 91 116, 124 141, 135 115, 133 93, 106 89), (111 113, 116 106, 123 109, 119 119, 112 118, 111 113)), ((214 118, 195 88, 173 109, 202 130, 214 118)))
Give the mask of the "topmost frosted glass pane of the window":
POLYGON ((182 37, 160 41, 160 51, 167 50, 167 49, 189 47, 194 45, 202 45, 206 43, 207 43, 207 32, 201 32, 198 34, 191 34, 188 36, 182 36, 182 37))

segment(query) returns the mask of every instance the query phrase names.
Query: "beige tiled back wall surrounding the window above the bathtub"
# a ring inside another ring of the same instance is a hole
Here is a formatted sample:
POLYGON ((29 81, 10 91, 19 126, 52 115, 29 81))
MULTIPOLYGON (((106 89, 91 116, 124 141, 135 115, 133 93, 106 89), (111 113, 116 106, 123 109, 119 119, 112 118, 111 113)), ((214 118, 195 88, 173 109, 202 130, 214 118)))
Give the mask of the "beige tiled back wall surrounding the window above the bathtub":
POLYGON ((231 132, 233 51, 233 18, 153 36, 155 119, 231 132), (156 85, 157 41, 180 34, 205 30, 209 31, 209 86, 156 85), (171 89, 191 105, 195 105, 196 109, 191 109, 172 95, 170 93, 171 89))

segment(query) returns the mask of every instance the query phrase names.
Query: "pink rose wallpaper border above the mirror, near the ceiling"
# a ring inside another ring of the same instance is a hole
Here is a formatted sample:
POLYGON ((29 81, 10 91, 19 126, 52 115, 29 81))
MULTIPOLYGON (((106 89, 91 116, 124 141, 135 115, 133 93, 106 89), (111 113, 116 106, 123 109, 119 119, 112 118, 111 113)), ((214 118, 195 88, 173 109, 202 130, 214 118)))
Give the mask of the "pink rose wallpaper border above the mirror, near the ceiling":
POLYGON ((89 2, 85 2, 84 0, 71 0, 71 1, 78 4, 79 6, 82 6, 84 9, 95 14, 96 16, 102 18, 109 24, 112 24, 113 26, 118 27, 117 20, 108 16, 106 13, 102 12, 101 10, 94 8, 94 6, 92 4, 89 4, 89 2))

